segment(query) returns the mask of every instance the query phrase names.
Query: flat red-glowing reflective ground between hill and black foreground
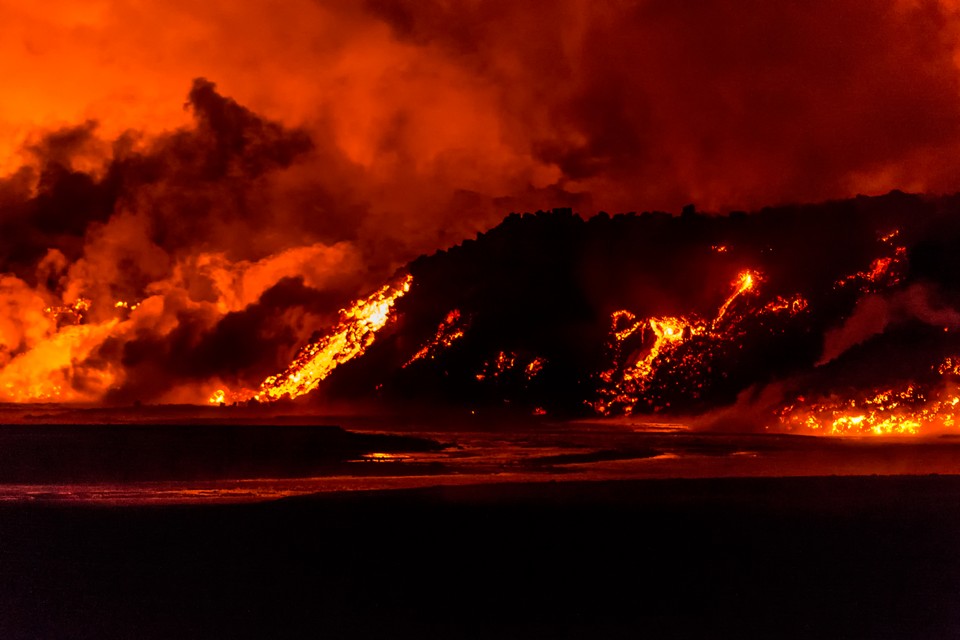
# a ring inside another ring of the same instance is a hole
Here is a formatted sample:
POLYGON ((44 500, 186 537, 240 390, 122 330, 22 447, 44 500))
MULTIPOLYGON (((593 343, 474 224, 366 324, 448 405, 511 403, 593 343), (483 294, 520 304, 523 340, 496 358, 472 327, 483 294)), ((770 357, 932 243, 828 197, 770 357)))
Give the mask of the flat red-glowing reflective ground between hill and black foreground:
MULTIPOLYGON (((384 424, 344 424, 386 432, 384 424)), ((525 428, 391 430, 450 443, 435 453, 371 452, 334 474, 124 484, 0 484, 2 502, 256 502, 322 492, 514 482, 960 474, 960 439, 704 434, 680 425, 539 423, 525 428), (345 471, 344 471, 345 470, 345 471)))

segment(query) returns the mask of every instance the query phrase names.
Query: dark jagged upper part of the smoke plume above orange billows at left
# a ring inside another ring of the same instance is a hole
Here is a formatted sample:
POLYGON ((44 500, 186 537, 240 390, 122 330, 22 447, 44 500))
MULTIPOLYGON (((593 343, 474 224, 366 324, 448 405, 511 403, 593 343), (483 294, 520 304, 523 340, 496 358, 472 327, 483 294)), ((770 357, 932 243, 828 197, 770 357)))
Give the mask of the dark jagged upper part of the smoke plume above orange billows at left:
POLYGON ((75 260, 83 238, 121 214, 141 215, 147 239, 169 254, 209 248, 259 257, 250 243, 222 234, 250 236, 269 226, 271 212, 256 206, 257 194, 270 189, 267 174, 307 154, 311 140, 220 96, 203 79, 194 82, 187 108, 194 127, 150 141, 133 132, 104 141, 88 122, 31 145, 35 165, 0 191, 0 263, 22 271, 49 249, 75 260), (90 169, 91 159, 99 166, 90 169))

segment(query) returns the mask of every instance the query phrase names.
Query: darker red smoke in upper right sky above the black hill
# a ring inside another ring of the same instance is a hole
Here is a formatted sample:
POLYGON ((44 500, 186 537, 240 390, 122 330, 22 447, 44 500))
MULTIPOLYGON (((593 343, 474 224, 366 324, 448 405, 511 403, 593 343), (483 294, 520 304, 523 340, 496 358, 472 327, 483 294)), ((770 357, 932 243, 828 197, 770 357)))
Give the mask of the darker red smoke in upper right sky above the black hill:
POLYGON ((368 5, 500 83, 534 154, 602 207, 956 188, 956 31, 937 3, 368 5))

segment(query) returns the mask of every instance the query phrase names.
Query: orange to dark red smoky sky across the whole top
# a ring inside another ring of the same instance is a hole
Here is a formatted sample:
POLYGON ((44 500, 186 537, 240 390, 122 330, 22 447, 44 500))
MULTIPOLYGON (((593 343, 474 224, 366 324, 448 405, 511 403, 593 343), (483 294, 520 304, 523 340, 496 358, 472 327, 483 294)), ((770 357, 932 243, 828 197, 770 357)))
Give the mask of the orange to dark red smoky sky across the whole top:
POLYGON ((311 132, 306 173, 342 191, 291 194, 299 215, 412 255, 510 210, 956 188, 952 0, 55 4, 6 8, 4 155, 64 122, 182 126, 208 77, 311 132))

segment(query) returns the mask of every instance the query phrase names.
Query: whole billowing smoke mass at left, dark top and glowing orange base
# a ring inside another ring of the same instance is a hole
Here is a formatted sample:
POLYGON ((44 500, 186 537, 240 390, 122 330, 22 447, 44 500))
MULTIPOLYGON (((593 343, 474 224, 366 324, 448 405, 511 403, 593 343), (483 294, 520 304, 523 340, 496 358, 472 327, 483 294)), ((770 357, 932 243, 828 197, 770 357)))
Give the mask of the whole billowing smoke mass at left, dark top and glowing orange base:
MULTIPOLYGON (((0 187, 6 398, 202 400, 262 379, 379 282, 353 227, 294 215, 310 135, 197 79, 193 126, 52 132, 0 187)), ((307 189, 322 202, 323 180, 307 189)), ((346 200, 346 199, 345 199, 346 200)), ((389 272, 386 272, 387 275, 389 272)))

